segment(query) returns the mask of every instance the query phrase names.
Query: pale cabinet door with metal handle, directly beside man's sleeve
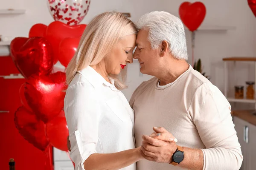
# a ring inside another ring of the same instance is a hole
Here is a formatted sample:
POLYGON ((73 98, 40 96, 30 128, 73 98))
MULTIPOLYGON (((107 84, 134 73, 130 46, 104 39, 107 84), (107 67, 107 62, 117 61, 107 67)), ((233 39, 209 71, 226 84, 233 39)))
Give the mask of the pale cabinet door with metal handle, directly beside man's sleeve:
POLYGON ((244 157, 240 170, 248 170, 247 169, 247 143, 244 141, 244 130, 248 123, 236 116, 233 118, 233 122, 235 124, 236 134, 238 137, 238 141, 241 145, 242 155, 244 157))

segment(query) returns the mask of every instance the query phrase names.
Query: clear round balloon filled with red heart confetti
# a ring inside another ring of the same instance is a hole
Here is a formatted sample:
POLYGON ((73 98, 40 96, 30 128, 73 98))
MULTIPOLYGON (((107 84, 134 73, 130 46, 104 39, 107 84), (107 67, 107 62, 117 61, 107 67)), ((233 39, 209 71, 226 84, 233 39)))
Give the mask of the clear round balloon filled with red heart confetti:
POLYGON ((55 21, 74 26, 86 16, 90 0, 47 0, 47 6, 55 21))

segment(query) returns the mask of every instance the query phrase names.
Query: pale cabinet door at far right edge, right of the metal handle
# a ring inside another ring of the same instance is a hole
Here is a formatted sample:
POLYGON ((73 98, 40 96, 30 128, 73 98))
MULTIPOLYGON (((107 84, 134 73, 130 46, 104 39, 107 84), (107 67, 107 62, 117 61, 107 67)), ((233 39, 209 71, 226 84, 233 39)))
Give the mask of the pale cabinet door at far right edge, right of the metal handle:
POLYGON ((256 170, 256 126, 248 124, 248 167, 247 170, 256 170))

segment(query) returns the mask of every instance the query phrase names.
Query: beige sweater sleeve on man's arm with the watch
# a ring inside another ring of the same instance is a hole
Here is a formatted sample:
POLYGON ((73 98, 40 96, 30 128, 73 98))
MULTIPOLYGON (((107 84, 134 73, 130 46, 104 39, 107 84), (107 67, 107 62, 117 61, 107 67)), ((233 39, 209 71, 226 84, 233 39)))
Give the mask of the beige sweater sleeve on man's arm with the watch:
POLYGON ((239 170, 243 160, 231 106, 221 91, 210 83, 197 88, 189 114, 206 149, 203 170, 239 170))

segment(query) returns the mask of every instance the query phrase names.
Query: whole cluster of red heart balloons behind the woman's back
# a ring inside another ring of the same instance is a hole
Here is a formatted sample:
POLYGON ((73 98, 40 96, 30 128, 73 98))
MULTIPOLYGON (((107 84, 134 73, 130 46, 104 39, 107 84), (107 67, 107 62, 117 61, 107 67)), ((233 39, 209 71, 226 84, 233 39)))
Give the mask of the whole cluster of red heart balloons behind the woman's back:
POLYGON ((11 42, 13 62, 26 79, 20 87, 22 106, 15 112, 15 125, 24 139, 40 150, 50 145, 68 150, 63 111, 66 75, 54 73, 53 65, 59 60, 67 67, 85 27, 60 21, 49 26, 35 24, 29 37, 17 37, 11 42))

